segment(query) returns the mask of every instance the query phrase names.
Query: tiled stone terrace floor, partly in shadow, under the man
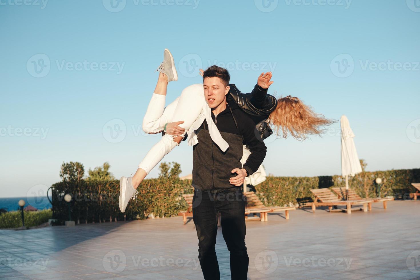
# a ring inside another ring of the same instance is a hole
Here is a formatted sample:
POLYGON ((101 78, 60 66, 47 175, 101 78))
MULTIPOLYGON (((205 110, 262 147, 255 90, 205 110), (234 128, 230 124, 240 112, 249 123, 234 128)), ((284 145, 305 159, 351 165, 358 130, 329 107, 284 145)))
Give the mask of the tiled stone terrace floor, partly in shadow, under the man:
MULTIPOLYGON (((317 209, 247 222, 248 279, 420 279, 420 201, 371 212, 317 209)), ((202 279, 194 222, 181 217, 0 230, 0 278, 202 279)), ((221 228, 220 278, 230 279, 221 228)))

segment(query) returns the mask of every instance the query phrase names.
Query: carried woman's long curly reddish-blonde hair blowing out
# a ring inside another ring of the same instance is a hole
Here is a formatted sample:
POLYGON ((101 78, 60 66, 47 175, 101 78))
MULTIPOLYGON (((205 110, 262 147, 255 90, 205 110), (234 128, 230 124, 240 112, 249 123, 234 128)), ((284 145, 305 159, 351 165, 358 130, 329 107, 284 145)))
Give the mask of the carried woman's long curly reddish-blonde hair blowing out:
POLYGON ((267 122, 277 136, 286 139, 290 135, 297 140, 304 140, 310 134, 321 135, 325 132, 322 126, 335 123, 322 114, 317 114, 312 107, 291 95, 277 100, 276 109, 270 113, 267 122))

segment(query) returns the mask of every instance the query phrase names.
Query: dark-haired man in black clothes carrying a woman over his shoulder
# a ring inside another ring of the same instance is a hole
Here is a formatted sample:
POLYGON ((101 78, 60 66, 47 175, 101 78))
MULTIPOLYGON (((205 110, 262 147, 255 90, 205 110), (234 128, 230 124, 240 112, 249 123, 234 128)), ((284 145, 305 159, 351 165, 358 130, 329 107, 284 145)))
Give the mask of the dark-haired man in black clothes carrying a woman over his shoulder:
POLYGON ((244 178, 258 170, 267 148, 255 135, 251 118, 236 102, 226 99, 230 75, 216 65, 204 71, 203 84, 212 119, 229 144, 223 152, 213 143, 206 120, 196 131, 198 143, 193 147, 192 186, 193 219, 199 239, 199 261, 207 279, 219 279, 215 252, 218 212, 223 238, 230 251, 232 279, 247 279, 249 257, 245 246, 245 199, 241 190, 244 178), (251 154, 242 165, 242 145, 251 154))

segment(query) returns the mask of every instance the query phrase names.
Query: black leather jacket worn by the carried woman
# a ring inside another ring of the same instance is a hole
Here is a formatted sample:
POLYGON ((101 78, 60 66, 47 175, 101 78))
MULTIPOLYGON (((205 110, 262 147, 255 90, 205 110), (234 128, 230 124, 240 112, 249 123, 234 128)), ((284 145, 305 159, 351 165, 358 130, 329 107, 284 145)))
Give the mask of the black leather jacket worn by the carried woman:
POLYGON ((273 134, 266 120, 271 112, 276 110, 277 99, 273 95, 267 94, 266 89, 255 85, 251 93, 242 93, 234 85, 230 84, 228 98, 233 99, 241 109, 247 113, 255 122, 257 133, 262 139, 266 139, 273 134))

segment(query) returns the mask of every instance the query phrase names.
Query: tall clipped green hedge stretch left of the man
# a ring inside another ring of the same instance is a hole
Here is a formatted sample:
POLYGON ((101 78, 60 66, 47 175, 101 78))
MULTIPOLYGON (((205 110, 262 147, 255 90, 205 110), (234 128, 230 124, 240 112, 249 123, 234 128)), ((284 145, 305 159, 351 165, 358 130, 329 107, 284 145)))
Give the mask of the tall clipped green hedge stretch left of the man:
POLYGON ((137 202, 130 201, 124 213, 118 207, 119 180, 83 179, 72 175, 78 168, 83 170, 79 163, 63 164, 62 170, 71 170, 70 174, 62 172, 66 174, 62 176, 63 181, 53 185, 53 217, 59 220, 59 225, 68 220, 65 194, 73 196, 71 219, 76 223, 171 217, 188 209, 188 204, 179 197, 185 192, 192 193, 191 180, 179 179, 181 169, 178 163, 174 162, 172 167, 162 163, 159 178, 144 180, 137 189, 137 202))

